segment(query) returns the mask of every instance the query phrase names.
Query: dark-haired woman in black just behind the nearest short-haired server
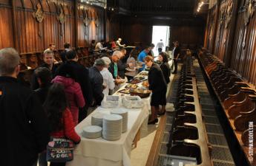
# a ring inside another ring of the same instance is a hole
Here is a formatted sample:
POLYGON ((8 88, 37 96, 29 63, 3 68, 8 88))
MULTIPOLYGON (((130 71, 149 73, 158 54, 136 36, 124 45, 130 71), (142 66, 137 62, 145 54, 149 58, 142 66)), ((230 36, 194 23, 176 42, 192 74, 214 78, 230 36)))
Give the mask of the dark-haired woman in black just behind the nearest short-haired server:
POLYGON ((171 71, 170 71, 170 66, 168 64, 168 55, 166 52, 160 52, 160 54, 158 55, 158 60, 160 60, 161 64, 160 64, 160 68, 163 72, 163 76, 165 77, 165 82, 168 84, 170 83, 170 75, 171 75, 171 71))

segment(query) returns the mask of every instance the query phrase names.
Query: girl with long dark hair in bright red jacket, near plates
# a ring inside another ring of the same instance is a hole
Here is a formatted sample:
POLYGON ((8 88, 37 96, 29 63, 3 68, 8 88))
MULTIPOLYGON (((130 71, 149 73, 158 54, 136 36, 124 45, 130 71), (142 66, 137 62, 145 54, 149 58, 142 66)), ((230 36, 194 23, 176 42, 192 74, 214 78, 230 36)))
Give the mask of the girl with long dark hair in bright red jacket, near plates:
MULTIPOLYGON (((67 138, 75 144, 80 142, 80 136, 76 134, 73 117, 68 108, 68 101, 65 95, 64 86, 60 83, 53 83, 47 94, 44 103, 45 111, 50 122, 50 136, 67 138)), ((64 166, 65 162, 51 162, 50 166, 64 166)))

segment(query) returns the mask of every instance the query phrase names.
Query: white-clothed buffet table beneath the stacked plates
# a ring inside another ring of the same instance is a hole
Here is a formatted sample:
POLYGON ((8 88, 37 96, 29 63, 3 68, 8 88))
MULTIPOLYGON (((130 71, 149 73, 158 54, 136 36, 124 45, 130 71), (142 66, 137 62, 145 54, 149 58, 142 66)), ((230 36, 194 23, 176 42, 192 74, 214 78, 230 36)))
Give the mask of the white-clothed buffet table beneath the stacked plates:
MULTIPOLYGON (((140 83, 139 83, 140 84, 140 83)), ((124 89, 127 83, 124 83, 120 89, 124 89)), ((140 86, 140 85, 139 85, 140 86)), ((113 95, 123 96, 124 94, 116 91, 113 95)), ((127 95, 127 94, 126 94, 127 95)), ((85 118, 76 126, 76 132, 81 136, 81 142, 74 150, 74 159, 67 162, 68 166, 130 166, 131 165, 131 147, 134 137, 139 131, 142 123, 147 125, 148 114, 150 110, 150 98, 143 99, 142 108, 102 108, 99 106, 93 113, 85 118), (91 125, 93 114, 110 114, 114 109, 124 109, 128 111, 128 130, 122 134, 116 141, 108 141, 103 138, 86 139, 82 137, 82 128, 91 125)))

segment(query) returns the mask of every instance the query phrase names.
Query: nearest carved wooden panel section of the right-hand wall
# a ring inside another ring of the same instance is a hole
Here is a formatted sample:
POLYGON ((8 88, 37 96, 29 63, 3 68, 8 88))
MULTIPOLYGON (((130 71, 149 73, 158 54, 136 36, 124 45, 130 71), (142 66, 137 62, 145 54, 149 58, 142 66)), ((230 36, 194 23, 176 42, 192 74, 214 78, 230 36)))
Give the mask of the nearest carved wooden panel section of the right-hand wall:
POLYGON ((232 52, 231 67, 249 83, 256 85, 256 1, 241 3, 232 52))

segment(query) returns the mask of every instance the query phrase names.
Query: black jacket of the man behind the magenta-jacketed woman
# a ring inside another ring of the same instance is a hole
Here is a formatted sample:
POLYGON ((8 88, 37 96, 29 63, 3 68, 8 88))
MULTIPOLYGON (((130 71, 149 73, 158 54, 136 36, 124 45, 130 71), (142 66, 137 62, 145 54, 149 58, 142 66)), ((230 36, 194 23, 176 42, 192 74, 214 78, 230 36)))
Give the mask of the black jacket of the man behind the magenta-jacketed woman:
MULTIPOLYGON (((85 103, 87 106, 90 106, 93 101, 93 91, 91 89, 88 69, 73 60, 68 60, 66 63, 73 69, 73 79, 81 86, 85 103)), ((56 75, 58 75, 58 70, 56 71, 56 75)))

